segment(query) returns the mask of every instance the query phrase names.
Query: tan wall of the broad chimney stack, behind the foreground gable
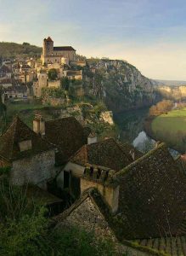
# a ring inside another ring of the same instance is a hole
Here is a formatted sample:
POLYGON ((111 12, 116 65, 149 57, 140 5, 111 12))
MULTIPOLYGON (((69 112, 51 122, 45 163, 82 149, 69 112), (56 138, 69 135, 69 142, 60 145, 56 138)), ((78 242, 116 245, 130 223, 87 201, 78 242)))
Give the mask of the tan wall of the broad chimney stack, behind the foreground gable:
POLYGON ((104 197, 104 201, 110 206, 111 211, 114 213, 118 208, 119 186, 111 187, 105 186, 102 183, 97 183, 87 178, 81 178, 81 194, 90 188, 96 188, 99 193, 104 197))

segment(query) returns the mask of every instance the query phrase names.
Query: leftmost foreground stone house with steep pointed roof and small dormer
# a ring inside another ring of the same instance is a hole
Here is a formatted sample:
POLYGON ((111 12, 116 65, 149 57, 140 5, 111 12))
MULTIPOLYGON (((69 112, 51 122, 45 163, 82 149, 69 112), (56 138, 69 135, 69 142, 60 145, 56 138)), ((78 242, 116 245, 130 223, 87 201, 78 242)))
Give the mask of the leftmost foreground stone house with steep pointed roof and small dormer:
POLYGON ((10 166, 17 185, 37 184, 46 189, 55 177, 55 147, 25 125, 19 117, 0 137, 0 166, 10 166))

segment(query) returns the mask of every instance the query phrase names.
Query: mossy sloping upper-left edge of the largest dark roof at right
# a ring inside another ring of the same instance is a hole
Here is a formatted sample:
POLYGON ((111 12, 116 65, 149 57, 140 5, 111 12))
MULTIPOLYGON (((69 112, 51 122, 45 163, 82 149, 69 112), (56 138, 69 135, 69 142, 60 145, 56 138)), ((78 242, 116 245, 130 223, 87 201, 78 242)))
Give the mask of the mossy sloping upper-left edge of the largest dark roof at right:
POLYGON ((150 150, 147 154, 142 155, 140 158, 138 158, 137 160, 133 161, 131 164, 129 164, 128 166, 124 167, 119 172, 116 172, 114 177, 119 177, 119 176, 121 176, 121 174, 126 173, 128 170, 130 170, 130 168, 132 166, 135 166, 137 162, 140 162, 140 161, 148 158, 149 155, 153 154, 155 151, 157 151, 160 148, 166 148, 166 143, 161 143, 157 148, 154 148, 154 149, 150 150))

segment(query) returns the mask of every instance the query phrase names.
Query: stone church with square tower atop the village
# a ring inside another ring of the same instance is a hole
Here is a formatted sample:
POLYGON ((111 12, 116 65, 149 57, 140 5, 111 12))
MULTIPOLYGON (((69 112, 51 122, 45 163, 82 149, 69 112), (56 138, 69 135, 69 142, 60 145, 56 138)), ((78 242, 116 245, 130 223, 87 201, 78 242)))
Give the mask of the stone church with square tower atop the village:
POLYGON ((54 47, 54 41, 50 37, 44 38, 41 59, 42 64, 69 64, 76 60, 76 49, 71 46, 54 47))

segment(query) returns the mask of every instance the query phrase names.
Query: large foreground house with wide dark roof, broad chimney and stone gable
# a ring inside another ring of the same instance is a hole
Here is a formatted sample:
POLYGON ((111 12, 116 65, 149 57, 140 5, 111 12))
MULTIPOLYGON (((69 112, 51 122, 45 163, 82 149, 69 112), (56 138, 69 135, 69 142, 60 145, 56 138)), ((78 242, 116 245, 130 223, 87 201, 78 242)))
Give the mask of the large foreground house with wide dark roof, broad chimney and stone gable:
POLYGON ((164 143, 119 172, 91 167, 84 169, 80 199, 56 218, 58 227, 78 225, 98 236, 114 234, 117 241, 149 255, 186 254, 185 167, 164 143))

